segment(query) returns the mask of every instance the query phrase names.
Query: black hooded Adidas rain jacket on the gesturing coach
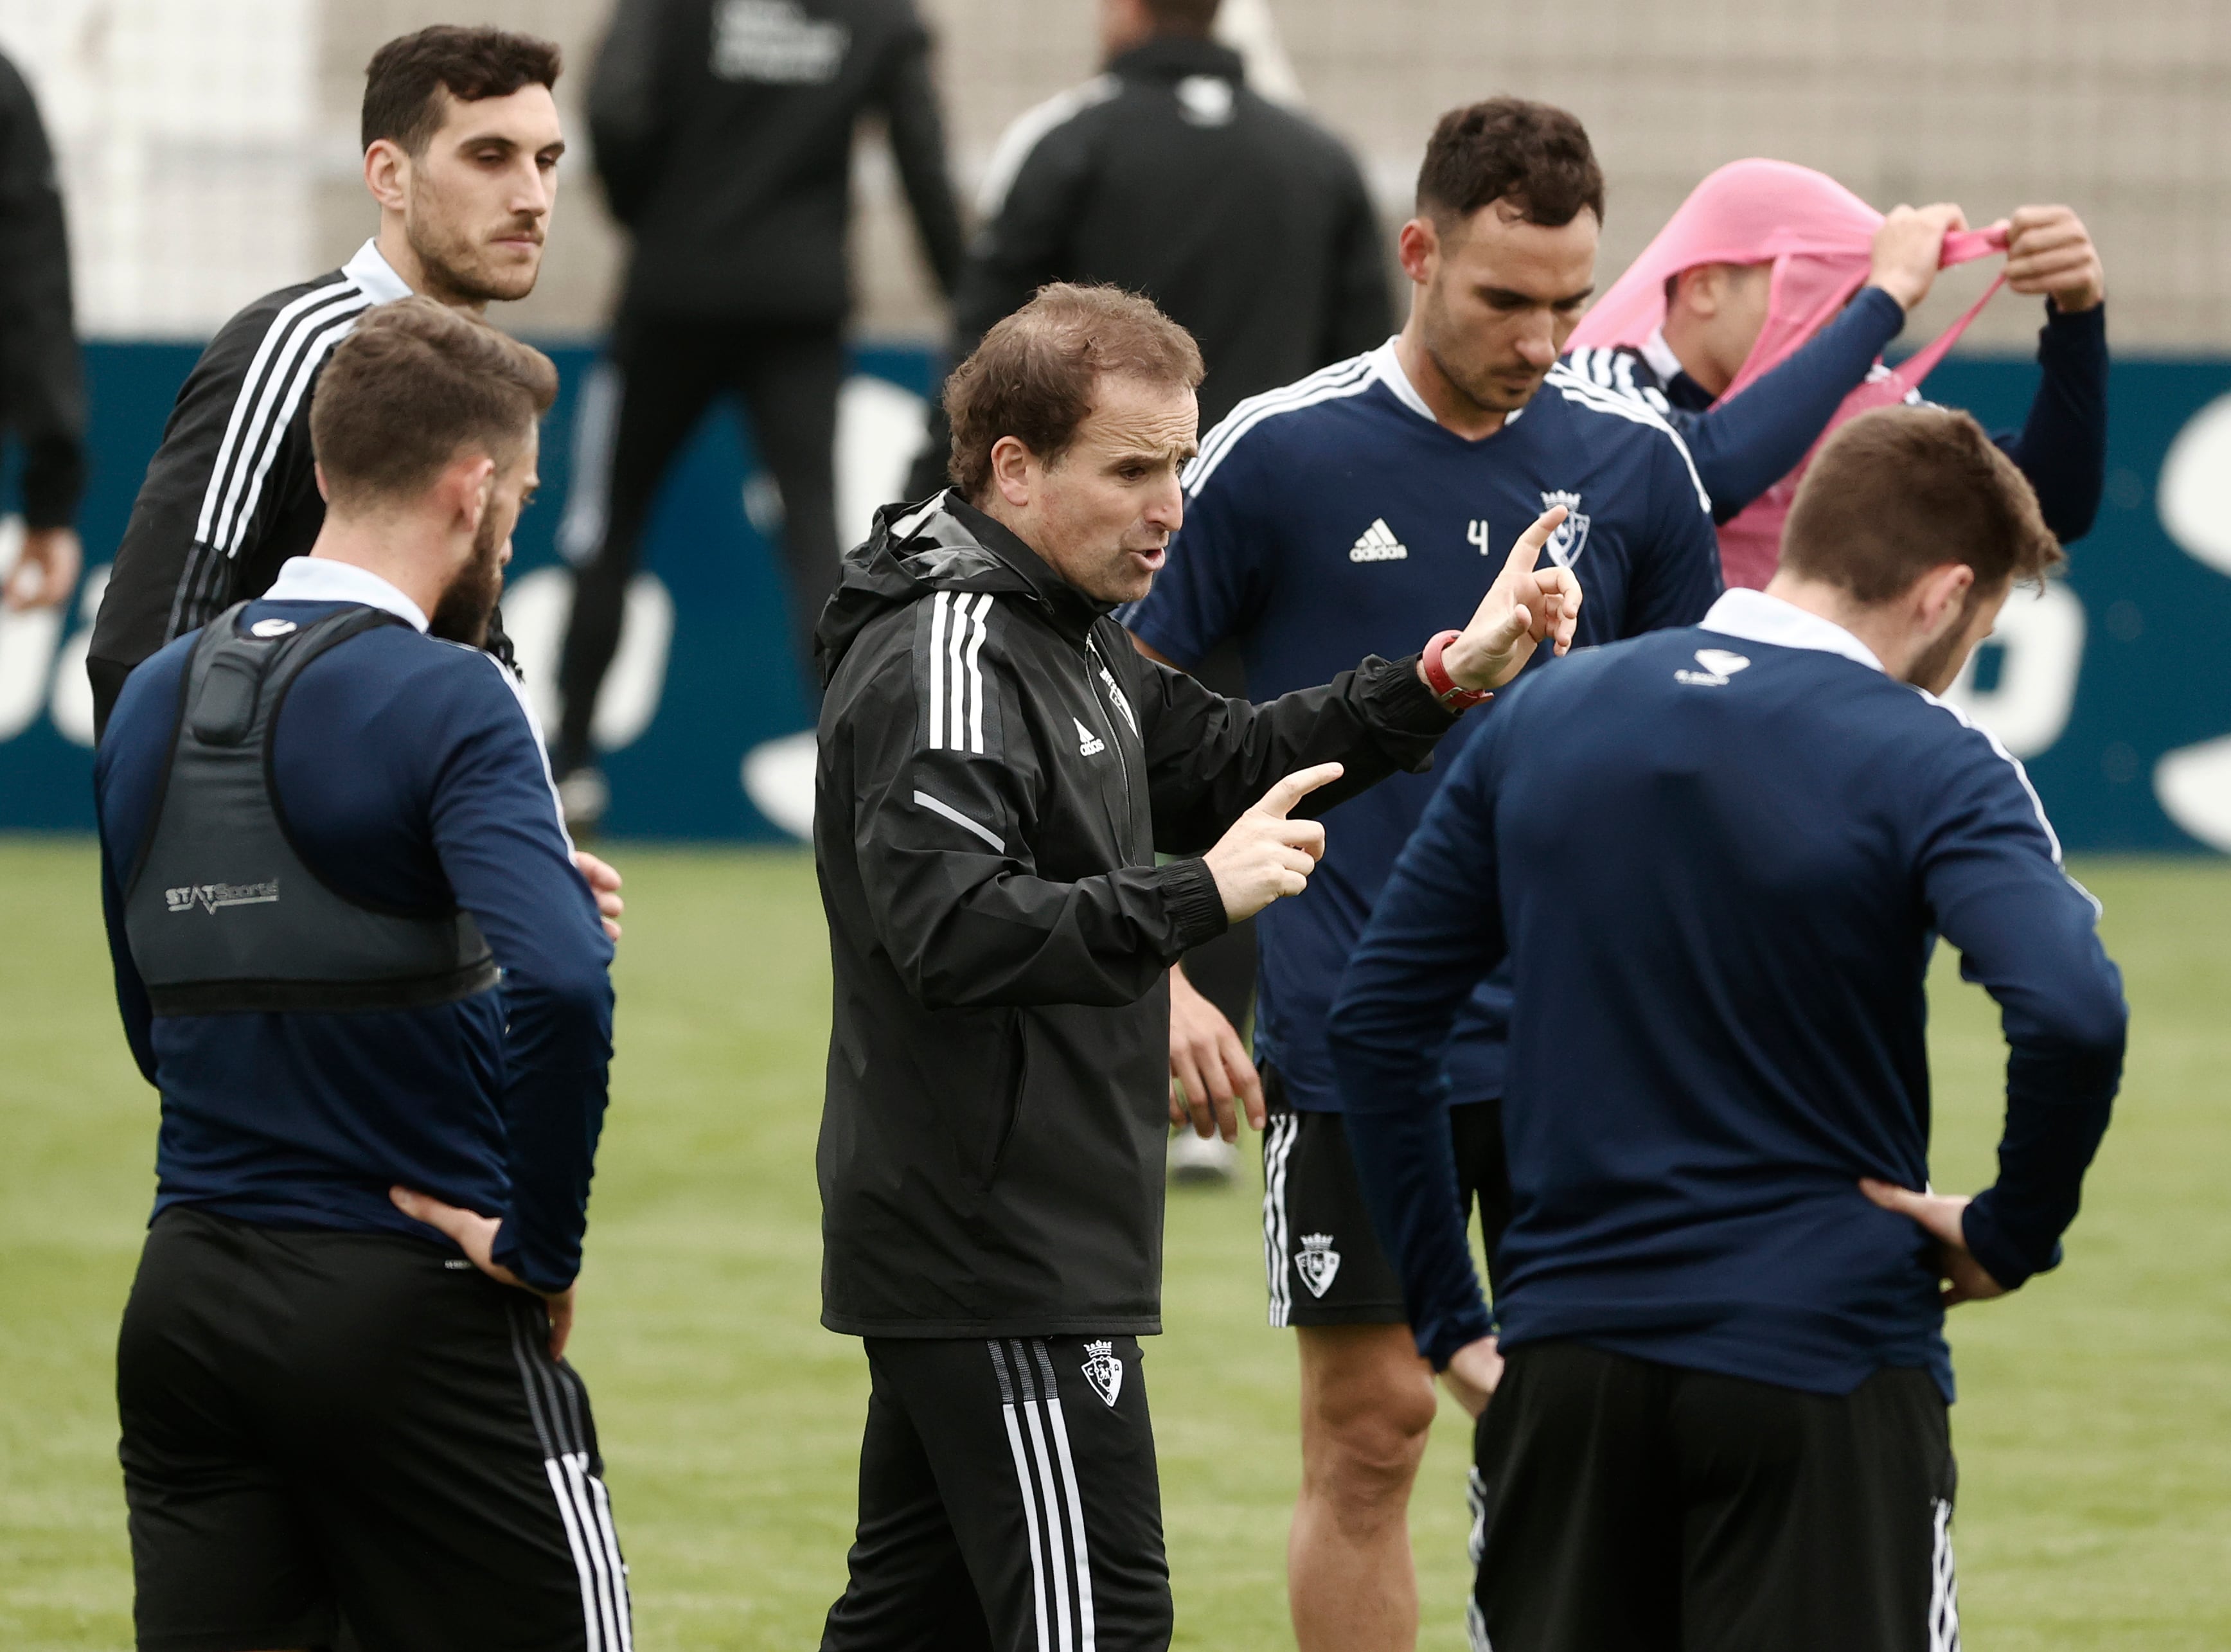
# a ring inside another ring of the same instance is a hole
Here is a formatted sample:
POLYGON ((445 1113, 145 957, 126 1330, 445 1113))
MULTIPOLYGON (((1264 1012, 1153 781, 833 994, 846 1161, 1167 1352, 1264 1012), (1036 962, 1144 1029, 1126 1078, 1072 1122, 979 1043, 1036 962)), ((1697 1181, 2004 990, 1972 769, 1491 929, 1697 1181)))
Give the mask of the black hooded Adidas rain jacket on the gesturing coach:
POLYGON ((1455 719, 1414 659, 1211 694, 950 493, 877 518, 817 650, 821 1322, 1160 1331, 1167 971, 1225 929, 1198 855, 1278 777, 1345 763, 1323 810, 1455 719))

